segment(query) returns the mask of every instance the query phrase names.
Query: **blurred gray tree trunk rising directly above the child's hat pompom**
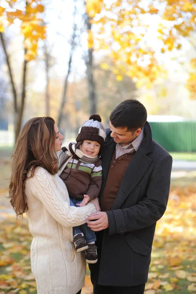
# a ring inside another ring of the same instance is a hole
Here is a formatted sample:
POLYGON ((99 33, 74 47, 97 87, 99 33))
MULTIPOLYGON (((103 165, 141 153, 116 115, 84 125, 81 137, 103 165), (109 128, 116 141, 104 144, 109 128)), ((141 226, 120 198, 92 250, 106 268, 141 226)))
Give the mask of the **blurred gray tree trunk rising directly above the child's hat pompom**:
MULTIPOLYGON (((86 14, 86 27, 87 30, 91 30, 91 23, 90 18, 86 14)), ((93 48, 88 48, 88 56, 85 60, 86 64, 86 75, 88 80, 88 99, 90 105, 90 114, 97 112, 97 99, 96 99, 96 89, 95 89, 95 82, 93 76, 93 66, 94 66, 94 59, 93 59, 93 48)))

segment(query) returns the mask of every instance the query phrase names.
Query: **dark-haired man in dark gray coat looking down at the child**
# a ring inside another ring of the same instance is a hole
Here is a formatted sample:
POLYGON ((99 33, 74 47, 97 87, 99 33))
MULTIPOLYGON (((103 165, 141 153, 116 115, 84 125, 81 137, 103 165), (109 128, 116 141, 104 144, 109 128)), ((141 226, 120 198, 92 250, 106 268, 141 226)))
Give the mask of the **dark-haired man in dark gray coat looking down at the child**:
POLYGON ((144 292, 172 166, 172 157, 152 139, 146 119, 137 100, 123 101, 110 116, 102 152, 101 212, 87 222, 97 232, 98 263, 89 265, 94 294, 144 292))

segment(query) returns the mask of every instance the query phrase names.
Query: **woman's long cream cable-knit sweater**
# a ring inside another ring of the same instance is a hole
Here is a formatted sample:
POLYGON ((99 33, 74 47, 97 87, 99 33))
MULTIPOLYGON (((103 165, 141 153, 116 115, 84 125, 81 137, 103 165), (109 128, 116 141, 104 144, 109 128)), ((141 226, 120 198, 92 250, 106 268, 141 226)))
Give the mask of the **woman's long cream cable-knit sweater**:
POLYGON ((25 193, 37 294, 76 294, 84 286, 86 268, 84 255, 72 244, 72 227, 86 222, 95 206, 70 206, 63 181, 41 167, 27 179, 25 193))

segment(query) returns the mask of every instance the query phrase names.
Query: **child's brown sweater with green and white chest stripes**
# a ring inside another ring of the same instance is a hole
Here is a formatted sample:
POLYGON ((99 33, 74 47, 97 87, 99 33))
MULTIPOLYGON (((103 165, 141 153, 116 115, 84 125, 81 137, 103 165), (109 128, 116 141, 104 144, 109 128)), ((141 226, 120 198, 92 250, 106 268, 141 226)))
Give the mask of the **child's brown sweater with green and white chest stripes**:
MULTIPOLYGON (((68 160, 66 152, 60 151, 58 154, 58 167, 68 160)), ((98 159, 94 163, 84 163, 78 156, 71 158, 60 178, 65 183, 69 196, 82 200, 84 194, 90 197, 90 200, 99 195, 102 184, 102 162, 98 159), (69 176, 68 176, 69 174, 69 176)))

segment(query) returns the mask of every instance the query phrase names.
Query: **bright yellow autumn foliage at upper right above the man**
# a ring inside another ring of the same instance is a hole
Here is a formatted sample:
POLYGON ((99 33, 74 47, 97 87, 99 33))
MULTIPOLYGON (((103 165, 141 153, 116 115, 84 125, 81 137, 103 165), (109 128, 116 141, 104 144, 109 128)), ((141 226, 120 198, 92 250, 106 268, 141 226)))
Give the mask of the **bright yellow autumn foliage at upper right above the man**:
MULTIPOLYGON (((152 16, 160 18, 157 33, 163 54, 181 49, 183 38, 193 42, 196 31, 195 0, 87 0, 86 9, 94 24, 94 45, 112 55, 117 78, 126 72, 140 84, 153 83, 163 72, 146 38, 152 16)), ((190 82, 194 78, 192 73, 190 82)), ((189 88, 195 91, 193 84, 189 88)))

